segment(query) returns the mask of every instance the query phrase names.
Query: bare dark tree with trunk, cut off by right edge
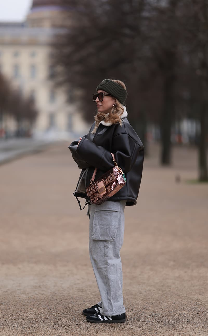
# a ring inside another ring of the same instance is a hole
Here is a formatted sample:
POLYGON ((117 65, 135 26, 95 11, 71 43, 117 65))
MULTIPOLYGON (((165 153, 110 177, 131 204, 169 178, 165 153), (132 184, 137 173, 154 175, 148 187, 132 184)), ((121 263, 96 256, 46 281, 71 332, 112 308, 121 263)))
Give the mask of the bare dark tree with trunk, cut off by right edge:
POLYGON ((208 180, 208 2, 184 0, 178 13, 183 27, 182 73, 189 96, 189 109, 200 122, 199 180, 208 180))

